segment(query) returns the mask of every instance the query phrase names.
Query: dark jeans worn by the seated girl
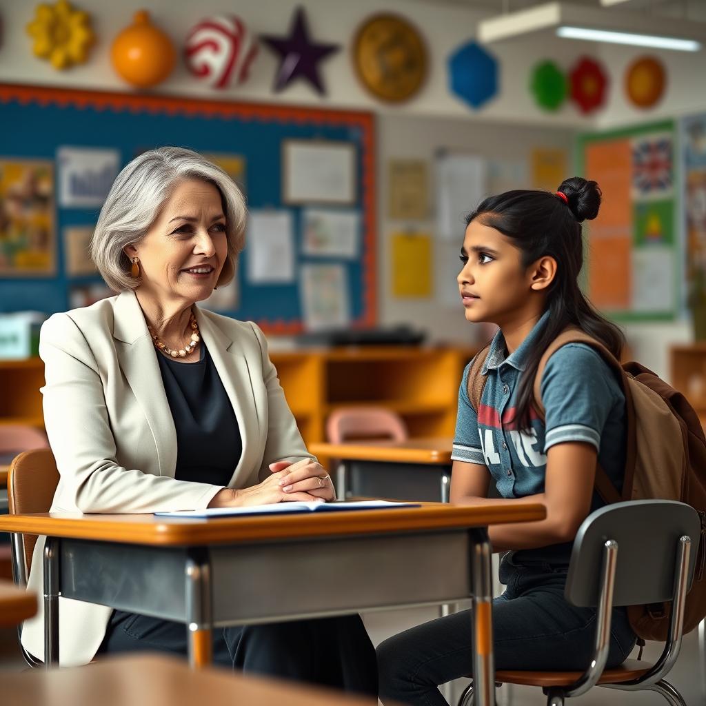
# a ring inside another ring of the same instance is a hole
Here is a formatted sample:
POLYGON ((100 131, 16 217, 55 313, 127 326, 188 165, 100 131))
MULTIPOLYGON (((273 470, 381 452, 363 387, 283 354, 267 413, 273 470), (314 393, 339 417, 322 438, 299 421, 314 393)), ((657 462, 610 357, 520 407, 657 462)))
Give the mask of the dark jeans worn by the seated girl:
MULTIPOLYGON (((505 592, 493 601, 496 669, 583 671, 590 663, 596 611, 564 598, 566 567, 501 563, 505 592)), ((378 646, 380 698, 414 706, 446 706, 440 684, 472 676, 471 611, 405 630, 378 646)), ((635 633, 625 609, 613 611, 608 666, 632 652, 635 633)))

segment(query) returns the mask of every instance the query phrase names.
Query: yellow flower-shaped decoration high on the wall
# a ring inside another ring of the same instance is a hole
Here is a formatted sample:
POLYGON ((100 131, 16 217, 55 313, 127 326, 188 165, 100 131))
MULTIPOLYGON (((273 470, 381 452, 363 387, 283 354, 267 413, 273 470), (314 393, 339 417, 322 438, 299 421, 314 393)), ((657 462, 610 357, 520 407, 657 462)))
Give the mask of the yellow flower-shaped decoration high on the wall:
POLYGON ((27 33, 35 40, 32 46, 35 56, 49 59, 52 66, 59 69, 83 64, 95 40, 89 14, 74 10, 67 0, 59 0, 54 5, 37 5, 27 33))

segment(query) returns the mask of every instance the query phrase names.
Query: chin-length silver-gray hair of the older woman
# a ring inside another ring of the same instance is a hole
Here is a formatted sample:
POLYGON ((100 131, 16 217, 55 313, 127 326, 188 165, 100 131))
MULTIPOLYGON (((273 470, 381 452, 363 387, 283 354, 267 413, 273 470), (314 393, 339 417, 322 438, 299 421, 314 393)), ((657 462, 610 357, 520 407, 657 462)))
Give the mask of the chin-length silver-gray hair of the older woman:
POLYGON ((130 274, 124 248, 145 237, 174 186, 201 179, 220 191, 226 219, 228 253, 217 285, 233 279, 245 244, 245 198, 234 181, 213 162, 193 150, 160 147, 135 157, 111 186, 90 243, 90 256, 115 292, 134 289, 140 277, 130 274))

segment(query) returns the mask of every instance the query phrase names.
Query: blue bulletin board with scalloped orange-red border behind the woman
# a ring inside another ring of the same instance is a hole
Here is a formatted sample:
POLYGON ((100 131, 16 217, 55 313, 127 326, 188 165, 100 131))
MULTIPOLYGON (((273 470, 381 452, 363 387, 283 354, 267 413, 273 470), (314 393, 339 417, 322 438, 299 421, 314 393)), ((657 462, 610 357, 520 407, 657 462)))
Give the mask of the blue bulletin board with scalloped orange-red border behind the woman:
MULTIPOLYGON (((312 265, 329 263, 341 265, 342 277, 334 284, 347 287, 349 325, 375 323, 375 135, 371 114, 1 84, 0 114, 0 160, 51 166, 61 148, 97 148, 119 152, 121 168, 140 152, 162 145, 242 160, 249 210, 266 213, 271 209, 291 215, 296 275, 293 282, 250 282, 246 244, 237 275, 237 306, 217 311, 256 321, 270 333, 298 333, 303 328, 300 273, 312 265), (352 256, 326 258, 325 253, 323 257, 319 253, 312 258, 304 248, 302 219, 307 205, 285 202, 282 191, 282 145, 288 140, 337 143, 354 150, 354 196, 346 208, 359 214, 360 232, 352 256)), ((55 179, 55 190, 57 184, 55 179)), ((85 232, 95 225, 100 207, 65 208, 54 199, 53 208, 54 232, 47 245, 52 251, 50 266, 36 273, 0 273, 0 311, 66 311, 71 309, 72 287, 101 281, 95 273, 81 271, 76 253, 68 253, 64 242, 66 229, 83 227, 85 232)))

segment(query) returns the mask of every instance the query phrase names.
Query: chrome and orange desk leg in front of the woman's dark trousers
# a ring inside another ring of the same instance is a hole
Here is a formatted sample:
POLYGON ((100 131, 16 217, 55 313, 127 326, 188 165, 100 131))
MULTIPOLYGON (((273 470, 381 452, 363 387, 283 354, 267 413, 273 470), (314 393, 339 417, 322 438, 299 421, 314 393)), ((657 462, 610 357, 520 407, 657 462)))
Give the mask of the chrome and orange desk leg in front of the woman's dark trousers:
POLYGON ((186 561, 186 619, 189 629, 189 664, 192 669, 213 661, 211 568, 204 554, 186 561))

